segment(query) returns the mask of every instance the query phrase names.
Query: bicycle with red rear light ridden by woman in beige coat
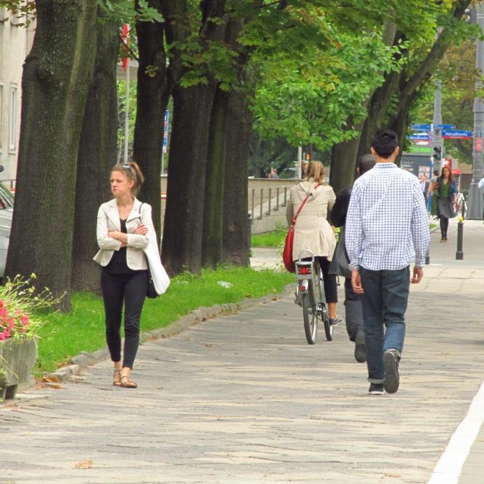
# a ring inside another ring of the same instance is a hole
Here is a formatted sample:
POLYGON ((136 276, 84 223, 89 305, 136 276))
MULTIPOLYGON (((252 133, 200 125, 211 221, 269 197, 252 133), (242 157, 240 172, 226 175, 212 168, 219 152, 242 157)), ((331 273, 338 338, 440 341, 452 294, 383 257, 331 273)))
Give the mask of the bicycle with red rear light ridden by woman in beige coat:
POLYGON ((299 259, 295 262, 295 274, 294 302, 302 307, 307 343, 316 343, 318 319, 323 321, 326 339, 332 341, 333 327, 330 325, 330 316, 324 295, 323 274, 321 273, 321 267, 314 259, 314 254, 309 249, 300 251, 299 259), (311 259, 303 261, 303 254, 309 254, 311 259))

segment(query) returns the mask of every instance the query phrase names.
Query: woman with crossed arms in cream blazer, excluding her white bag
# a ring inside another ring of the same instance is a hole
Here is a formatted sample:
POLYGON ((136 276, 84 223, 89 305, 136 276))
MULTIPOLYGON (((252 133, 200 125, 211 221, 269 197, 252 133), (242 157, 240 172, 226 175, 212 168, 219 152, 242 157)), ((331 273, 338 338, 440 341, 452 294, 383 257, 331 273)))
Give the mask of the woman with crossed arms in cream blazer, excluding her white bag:
POLYGON ((113 200, 98 210, 97 240, 99 251, 94 261, 103 267, 103 291, 106 341, 114 363, 112 384, 137 388, 131 381, 138 344, 140 316, 148 287, 145 249, 155 237, 152 210, 135 198, 144 177, 137 163, 117 165, 111 171, 113 200), (124 302, 124 351, 121 360, 121 321, 124 302))

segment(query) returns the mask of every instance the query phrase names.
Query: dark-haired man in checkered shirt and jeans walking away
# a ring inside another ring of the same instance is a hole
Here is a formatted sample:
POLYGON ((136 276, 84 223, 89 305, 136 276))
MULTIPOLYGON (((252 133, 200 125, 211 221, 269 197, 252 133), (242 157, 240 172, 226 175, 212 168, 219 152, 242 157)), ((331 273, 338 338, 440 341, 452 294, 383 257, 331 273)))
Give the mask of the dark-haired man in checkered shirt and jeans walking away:
POLYGON ((371 395, 398 390, 409 286, 423 277, 430 243, 420 183, 395 165, 398 150, 393 131, 374 135, 371 151, 376 165, 355 181, 346 217, 351 284, 363 295, 371 395))

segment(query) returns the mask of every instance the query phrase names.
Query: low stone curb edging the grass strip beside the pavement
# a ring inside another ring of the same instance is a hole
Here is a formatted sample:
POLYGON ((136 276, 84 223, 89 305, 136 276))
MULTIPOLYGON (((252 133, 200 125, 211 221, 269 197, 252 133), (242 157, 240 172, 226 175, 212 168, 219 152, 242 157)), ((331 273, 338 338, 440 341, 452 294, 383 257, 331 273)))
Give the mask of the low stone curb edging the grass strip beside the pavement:
MULTIPOLYGON (((177 335, 189 326, 207 321, 207 319, 217 318, 217 316, 223 316, 224 314, 235 314, 242 309, 247 309, 259 304, 267 304, 277 299, 285 298, 292 293, 294 284, 288 284, 281 293, 265 295, 261 298, 251 299, 244 298, 240 302, 233 302, 227 305, 213 305, 210 307, 199 307, 193 309, 186 316, 182 316, 174 321, 170 325, 164 328, 158 328, 156 330, 145 331, 140 335, 140 344, 151 341, 153 339, 169 338, 177 335)), ((83 369, 90 365, 96 365, 101 361, 109 358, 109 350, 107 347, 94 351, 94 353, 88 353, 82 351, 78 355, 71 358, 71 365, 60 367, 55 372, 44 373, 43 378, 47 381, 68 381, 75 380, 75 376, 80 374, 83 369)))

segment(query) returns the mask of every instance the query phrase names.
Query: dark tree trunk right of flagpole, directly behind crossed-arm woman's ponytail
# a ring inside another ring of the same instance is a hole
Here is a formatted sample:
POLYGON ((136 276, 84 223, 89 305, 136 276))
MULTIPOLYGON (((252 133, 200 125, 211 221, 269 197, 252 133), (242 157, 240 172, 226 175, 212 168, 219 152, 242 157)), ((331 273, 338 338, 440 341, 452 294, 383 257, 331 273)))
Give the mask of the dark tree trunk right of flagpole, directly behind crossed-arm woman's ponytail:
MULTIPOLYGON (((148 5, 161 11, 160 2, 148 5)), ((139 164, 145 184, 140 198, 152 205, 156 235, 161 235, 161 154, 163 122, 171 85, 166 70, 163 24, 136 22, 138 34, 138 101, 133 143, 133 158, 139 164), (147 73, 148 68, 148 73, 147 73)))

